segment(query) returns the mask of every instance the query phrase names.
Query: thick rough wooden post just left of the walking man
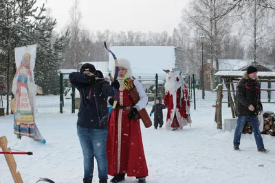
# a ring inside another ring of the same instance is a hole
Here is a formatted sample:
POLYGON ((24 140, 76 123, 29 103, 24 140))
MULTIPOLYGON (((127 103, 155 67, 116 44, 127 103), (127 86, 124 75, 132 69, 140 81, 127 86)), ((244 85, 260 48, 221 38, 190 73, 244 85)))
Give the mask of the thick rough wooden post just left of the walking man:
POLYGON ((215 115, 215 121, 217 123, 217 128, 222 129, 222 117, 221 117, 221 107, 222 107, 222 101, 223 101, 223 85, 218 85, 218 92, 217 92, 217 102, 216 102, 216 115, 215 115))

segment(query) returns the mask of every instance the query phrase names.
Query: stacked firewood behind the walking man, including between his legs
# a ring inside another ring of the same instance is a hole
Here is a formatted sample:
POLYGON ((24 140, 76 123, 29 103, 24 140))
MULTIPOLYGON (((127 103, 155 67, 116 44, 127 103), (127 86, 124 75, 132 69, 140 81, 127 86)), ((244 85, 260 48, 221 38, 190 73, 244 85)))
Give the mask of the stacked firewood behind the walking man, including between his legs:
MULTIPOLYGON (((263 114, 263 129, 260 129, 261 134, 270 134, 275 136, 275 114, 274 112, 264 112, 263 114)), ((243 127, 243 134, 252 134, 252 125, 249 121, 246 121, 243 127)))

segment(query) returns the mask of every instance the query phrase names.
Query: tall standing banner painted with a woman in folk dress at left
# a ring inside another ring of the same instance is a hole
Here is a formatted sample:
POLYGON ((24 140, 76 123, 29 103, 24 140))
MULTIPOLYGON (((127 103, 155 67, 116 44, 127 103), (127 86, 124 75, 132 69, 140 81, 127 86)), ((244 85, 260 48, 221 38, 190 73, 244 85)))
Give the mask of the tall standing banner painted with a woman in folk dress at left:
POLYGON ((35 123, 35 95, 42 94, 41 87, 34 83, 36 45, 17 47, 14 53, 17 72, 12 82, 14 99, 10 103, 14 112, 14 134, 20 139, 29 136, 45 143, 35 123))

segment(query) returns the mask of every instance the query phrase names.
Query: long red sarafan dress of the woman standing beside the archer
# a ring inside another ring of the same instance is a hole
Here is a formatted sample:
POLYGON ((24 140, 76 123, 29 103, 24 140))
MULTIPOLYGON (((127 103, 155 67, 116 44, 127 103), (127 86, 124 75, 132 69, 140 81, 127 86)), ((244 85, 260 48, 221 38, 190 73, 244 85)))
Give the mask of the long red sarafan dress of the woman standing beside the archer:
POLYGON ((146 177, 148 169, 142 144, 140 120, 129 120, 129 108, 133 102, 128 90, 120 90, 118 104, 109 117, 107 138, 108 174, 146 177))

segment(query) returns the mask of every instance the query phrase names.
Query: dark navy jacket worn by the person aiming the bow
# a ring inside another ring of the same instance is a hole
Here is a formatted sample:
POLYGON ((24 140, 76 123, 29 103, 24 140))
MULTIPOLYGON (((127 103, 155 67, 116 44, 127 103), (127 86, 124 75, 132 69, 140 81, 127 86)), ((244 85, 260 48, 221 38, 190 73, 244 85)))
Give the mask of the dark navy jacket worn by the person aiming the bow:
POLYGON ((107 98, 113 95, 113 87, 105 80, 95 80, 94 76, 80 72, 70 73, 69 80, 80 93, 77 125, 107 130, 107 123, 100 120, 108 114, 107 98))

